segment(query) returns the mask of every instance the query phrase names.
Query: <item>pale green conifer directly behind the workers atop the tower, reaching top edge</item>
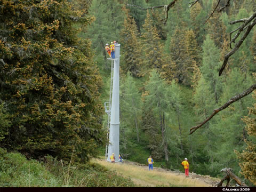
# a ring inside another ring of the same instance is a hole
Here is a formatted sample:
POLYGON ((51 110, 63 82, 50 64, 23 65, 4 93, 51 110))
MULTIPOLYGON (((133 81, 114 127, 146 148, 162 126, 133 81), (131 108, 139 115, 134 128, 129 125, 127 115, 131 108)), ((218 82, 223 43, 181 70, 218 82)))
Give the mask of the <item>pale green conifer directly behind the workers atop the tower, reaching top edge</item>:
POLYGON ((80 34, 83 38, 91 39, 91 47, 95 51, 94 60, 97 61, 101 72, 111 69, 109 62, 106 61, 108 58, 106 44, 110 45, 113 41, 120 42, 119 34, 125 17, 122 7, 123 2, 119 0, 93 0, 90 13, 93 14, 95 21, 80 34))

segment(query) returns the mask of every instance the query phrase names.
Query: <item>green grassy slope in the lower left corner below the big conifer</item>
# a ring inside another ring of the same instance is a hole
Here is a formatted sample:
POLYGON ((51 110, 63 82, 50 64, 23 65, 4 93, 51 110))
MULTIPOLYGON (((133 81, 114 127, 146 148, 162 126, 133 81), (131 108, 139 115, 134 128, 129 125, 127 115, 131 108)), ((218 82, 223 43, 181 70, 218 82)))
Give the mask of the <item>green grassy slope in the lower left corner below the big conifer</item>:
POLYGON ((41 162, 0 148, 0 187, 134 187, 129 178, 97 163, 41 162))

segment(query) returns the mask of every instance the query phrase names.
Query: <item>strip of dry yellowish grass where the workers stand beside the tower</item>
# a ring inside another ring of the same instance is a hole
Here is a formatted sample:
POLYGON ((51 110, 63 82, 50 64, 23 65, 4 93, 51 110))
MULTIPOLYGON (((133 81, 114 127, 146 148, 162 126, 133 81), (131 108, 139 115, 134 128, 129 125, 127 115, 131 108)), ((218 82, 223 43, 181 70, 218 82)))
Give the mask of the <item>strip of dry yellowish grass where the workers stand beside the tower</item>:
POLYGON ((125 161, 122 164, 113 164, 99 159, 93 161, 124 177, 130 177, 140 187, 214 187, 220 181, 217 178, 193 172, 189 173, 189 178, 186 178, 184 173, 180 171, 164 170, 159 167, 154 167, 153 171, 148 171, 148 166, 130 161, 125 161))

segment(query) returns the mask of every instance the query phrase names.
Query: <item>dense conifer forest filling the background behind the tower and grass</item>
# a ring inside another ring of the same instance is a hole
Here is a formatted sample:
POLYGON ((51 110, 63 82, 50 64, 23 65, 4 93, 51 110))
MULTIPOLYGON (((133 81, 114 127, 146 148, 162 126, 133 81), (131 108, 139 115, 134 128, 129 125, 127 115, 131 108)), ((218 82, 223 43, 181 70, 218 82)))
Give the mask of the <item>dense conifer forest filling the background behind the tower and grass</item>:
POLYGON ((105 155, 105 44, 115 40, 123 158, 152 155, 157 166, 182 170, 187 157, 190 171, 215 177, 231 168, 256 185, 254 93, 190 134, 255 84, 255 27, 223 68, 250 28, 230 22, 255 22, 255 12, 254 0, 1 0, 0 147, 36 159, 105 155))

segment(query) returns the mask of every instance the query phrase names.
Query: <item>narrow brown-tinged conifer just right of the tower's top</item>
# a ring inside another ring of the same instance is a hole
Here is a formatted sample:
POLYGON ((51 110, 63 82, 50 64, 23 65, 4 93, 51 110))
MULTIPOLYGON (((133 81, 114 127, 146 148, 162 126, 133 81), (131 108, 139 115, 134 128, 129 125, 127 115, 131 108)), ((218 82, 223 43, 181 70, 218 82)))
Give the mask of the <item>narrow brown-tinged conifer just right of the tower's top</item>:
POLYGON ((124 11, 126 11, 126 18, 124 19, 124 28, 121 31, 121 43, 125 59, 124 73, 130 71, 132 76, 139 76, 142 66, 142 46, 134 19, 129 15, 128 10, 124 9, 124 11))

